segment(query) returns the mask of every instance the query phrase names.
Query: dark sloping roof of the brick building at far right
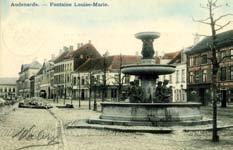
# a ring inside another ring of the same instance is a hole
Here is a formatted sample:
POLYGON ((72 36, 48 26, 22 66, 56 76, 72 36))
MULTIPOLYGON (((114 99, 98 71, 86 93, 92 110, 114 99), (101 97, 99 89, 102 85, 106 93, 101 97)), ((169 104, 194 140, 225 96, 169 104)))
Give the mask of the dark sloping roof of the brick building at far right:
MULTIPOLYGON (((216 35, 216 48, 223 48, 233 45, 233 30, 225 31, 216 35)), ((187 54, 206 52, 212 47, 212 37, 206 37, 194 45, 187 54)))

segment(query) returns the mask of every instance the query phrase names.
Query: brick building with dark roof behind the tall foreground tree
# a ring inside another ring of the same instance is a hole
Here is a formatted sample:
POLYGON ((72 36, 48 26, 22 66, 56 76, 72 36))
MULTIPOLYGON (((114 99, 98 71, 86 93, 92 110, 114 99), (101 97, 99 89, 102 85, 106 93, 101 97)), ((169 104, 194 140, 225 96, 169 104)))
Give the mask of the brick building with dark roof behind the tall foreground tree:
MULTIPOLYGON (((217 34, 217 59, 222 60, 218 70, 219 101, 233 100, 233 30, 217 34)), ((207 37, 187 51, 188 100, 211 103, 212 40, 207 37)))

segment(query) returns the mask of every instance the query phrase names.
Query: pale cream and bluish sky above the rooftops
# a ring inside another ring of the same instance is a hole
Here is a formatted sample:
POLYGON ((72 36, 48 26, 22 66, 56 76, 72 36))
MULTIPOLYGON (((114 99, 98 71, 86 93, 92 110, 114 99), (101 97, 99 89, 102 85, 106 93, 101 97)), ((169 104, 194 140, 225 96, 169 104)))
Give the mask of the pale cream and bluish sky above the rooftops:
MULTIPOLYGON (((159 54, 192 46, 194 35, 210 34, 196 23, 208 12, 206 0, 0 0, 0 77, 17 77, 21 64, 43 63, 63 46, 91 43, 110 55, 135 55, 142 43, 135 34, 160 33, 154 42, 159 54), (39 7, 12 7, 12 3, 36 2, 39 7), (106 3, 106 7, 50 7, 50 2, 106 3), (44 5, 44 6, 42 6, 44 5)), ((215 16, 233 13, 232 0, 218 0, 224 7, 215 16), (225 4, 228 6, 225 6, 225 4)), ((226 20, 233 20, 226 17, 226 20)), ((222 20, 222 23, 224 21, 222 20)), ((233 29, 233 24, 222 31, 233 29)))

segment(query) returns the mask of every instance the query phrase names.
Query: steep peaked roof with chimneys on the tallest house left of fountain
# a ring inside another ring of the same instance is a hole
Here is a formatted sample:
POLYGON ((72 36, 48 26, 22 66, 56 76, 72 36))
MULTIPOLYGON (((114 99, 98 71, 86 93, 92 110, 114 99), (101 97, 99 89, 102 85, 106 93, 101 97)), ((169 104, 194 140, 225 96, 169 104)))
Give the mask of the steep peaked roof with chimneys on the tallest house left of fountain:
MULTIPOLYGON (((78 48, 75 51, 64 51, 60 56, 58 56, 54 62, 58 63, 61 62, 65 59, 70 59, 70 58, 80 58, 80 56, 83 57, 101 57, 101 55, 99 54, 99 52, 96 50, 96 48, 91 44, 85 44, 82 47, 78 48)), ((83 62, 82 62, 83 63, 83 62)))

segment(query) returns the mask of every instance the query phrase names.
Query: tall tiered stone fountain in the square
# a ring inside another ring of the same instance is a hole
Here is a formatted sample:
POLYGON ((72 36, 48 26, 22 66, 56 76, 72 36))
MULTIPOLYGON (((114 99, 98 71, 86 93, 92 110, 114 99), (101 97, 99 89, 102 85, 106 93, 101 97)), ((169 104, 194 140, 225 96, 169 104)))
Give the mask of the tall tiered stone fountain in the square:
POLYGON ((139 78, 142 100, 134 103, 103 102, 99 118, 89 119, 89 124, 136 125, 136 126, 173 126, 209 123, 200 114, 199 103, 159 103, 155 97, 156 79, 159 75, 171 74, 173 65, 155 64, 154 39, 157 32, 141 32, 135 37, 142 40, 142 60, 140 64, 125 65, 122 72, 139 78))

